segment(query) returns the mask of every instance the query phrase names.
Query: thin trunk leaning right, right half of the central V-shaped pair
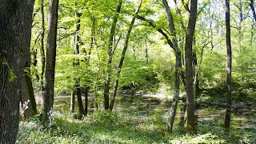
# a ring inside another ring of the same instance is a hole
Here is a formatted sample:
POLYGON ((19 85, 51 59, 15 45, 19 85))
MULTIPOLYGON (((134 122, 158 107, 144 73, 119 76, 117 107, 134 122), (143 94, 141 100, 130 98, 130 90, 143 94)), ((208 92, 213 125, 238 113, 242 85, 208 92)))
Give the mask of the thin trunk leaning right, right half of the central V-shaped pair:
POLYGON ((140 1, 139 5, 137 7, 137 10, 134 13, 134 18, 130 22, 129 30, 128 30, 127 34, 126 34, 125 45, 123 46, 122 56, 121 56, 121 59, 120 59, 119 65, 118 65, 117 78, 116 78, 116 80, 114 82, 113 94, 112 94, 111 101, 110 101, 110 110, 113 110, 113 107, 114 107, 114 99, 115 99, 115 96, 116 96, 117 90, 118 90, 118 82, 119 82, 118 78, 120 76, 121 69, 122 69, 122 64, 123 64, 123 61, 124 61, 125 56, 126 56, 126 50, 127 50, 128 43, 129 43, 130 33, 131 33, 131 30, 133 29, 135 19, 136 19, 137 15, 138 15, 138 11, 139 11, 141 6, 142 6, 142 0, 140 1))

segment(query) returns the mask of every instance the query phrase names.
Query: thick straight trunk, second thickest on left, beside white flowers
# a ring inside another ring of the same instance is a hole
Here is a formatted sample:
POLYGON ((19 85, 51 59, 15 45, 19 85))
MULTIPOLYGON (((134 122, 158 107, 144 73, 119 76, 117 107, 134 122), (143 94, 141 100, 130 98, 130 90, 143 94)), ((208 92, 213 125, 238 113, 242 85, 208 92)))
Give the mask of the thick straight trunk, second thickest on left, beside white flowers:
POLYGON ((45 92, 42 96, 43 120, 49 121, 49 112, 54 106, 54 72, 56 62, 56 37, 58 24, 58 0, 50 0, 48 14, 48 35, 46 45, 46 82, 45 92))

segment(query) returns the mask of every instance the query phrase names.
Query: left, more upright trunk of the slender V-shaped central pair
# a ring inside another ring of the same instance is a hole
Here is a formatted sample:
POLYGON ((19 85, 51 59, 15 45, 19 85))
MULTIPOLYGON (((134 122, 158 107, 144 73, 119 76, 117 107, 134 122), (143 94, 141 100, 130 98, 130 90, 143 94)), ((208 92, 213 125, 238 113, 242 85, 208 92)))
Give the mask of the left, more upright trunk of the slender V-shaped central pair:
POLYGON ((107 70, 106 70, 106 81, 104 85, 104 107, 105 110, 109 109, 109 99, 110 99, 110 73, 111 73, 111 63, 112 63, 112 57, 113 57, 113 52, 112 52, 112 47, 113 47, 113 38, 114 38, 114 33, 115 33, 115 28, 117 26, 118 22, 118 14, 120 13, 122 6, 122 0, 118 1, 118 6, 116 10, 116 14, 114 15, 114 19, 112 22, 111 30, 110 30, 110 39, 109 39, 109 45, 108 45, 108 51, 107 51, 107 70))

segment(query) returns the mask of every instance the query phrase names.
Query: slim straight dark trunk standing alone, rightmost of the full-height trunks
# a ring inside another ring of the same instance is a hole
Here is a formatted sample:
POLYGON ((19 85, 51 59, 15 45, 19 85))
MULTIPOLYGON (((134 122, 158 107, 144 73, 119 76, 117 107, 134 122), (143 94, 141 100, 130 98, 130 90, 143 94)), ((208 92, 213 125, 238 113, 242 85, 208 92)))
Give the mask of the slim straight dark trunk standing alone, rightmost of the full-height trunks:
POLYGON ((226 102, 228 108, 225 116, 225 134, 229 134, 230 118, 231 118, 231 66, 232 66, 232 50, 230 39, 230 0, 226 0, 226 102))

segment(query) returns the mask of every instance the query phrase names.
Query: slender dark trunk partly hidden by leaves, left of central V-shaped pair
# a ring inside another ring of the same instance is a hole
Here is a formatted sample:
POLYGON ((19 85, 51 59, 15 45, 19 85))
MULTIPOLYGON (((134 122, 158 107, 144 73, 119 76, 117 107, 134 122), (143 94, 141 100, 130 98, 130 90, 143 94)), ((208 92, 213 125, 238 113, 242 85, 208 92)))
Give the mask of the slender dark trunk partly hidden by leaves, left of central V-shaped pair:
MULTIPOLYGON (((77 18, 76 21, 76 28, 75 28, 75 34, 74 34, 74 54, 78 55, 79 54, 79 41, 80 41, 80 37, 78 35, 79 30, 80 30, 80 17, 81 14, 78 12, 78 10, 76 10, 76 2, 74 2, 74 14, 75 17, 77 18)), ((80 62, 78 58, 75 58, 74 60, 74 66, 79 66, 80 62)), ((81 97, 81 86, 80 86, 80 78, 75 78, 75 89, 77 92, 77 98, 78 98, 78 110, 79 110, 79 117, 82 117, 82 115, 85 115, 85 110, 83 109, 82 106, 82 97, 81 97)))

